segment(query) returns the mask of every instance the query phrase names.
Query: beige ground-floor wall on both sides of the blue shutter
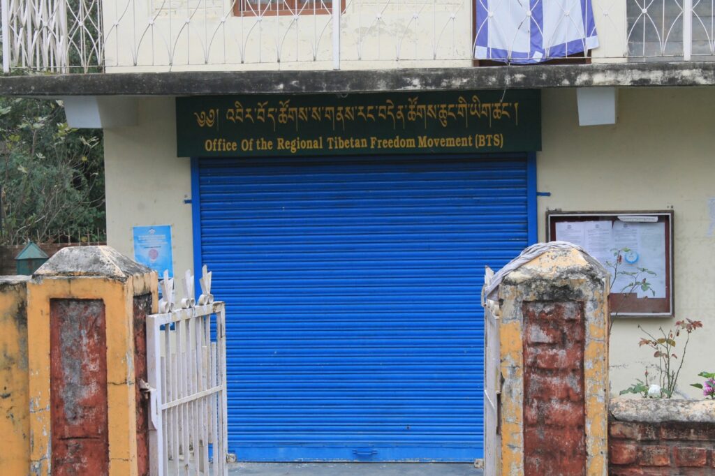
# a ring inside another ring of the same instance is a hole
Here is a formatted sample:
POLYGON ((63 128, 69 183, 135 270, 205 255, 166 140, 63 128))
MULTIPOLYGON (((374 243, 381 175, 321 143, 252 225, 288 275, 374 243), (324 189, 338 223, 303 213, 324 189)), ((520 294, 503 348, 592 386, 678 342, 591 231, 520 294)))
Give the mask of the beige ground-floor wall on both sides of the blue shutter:
MULTIPOLYGON (((564 210, 667 209, 675 212, 676 319, 701 319, 681 389, 711 365, 715 331, 715 89, 621 90, 614 126, 579 127, 576 91, 543 92, 543 152, 538 154, 539 238, 547 207, 564 210), (711 342, 711 339, 710 339, 711 342)), ((174 270, 192 267, 189 160, 177 158, 173 99, 142 99, 138 127, 107 130, 109 244, 132 256, 132 226, 171 224, 174 270)), ((643 376, 652 352, 638 348, 638 324, 654 331, 676 319, 620 319, 613 326, 612 390, 643 376)))

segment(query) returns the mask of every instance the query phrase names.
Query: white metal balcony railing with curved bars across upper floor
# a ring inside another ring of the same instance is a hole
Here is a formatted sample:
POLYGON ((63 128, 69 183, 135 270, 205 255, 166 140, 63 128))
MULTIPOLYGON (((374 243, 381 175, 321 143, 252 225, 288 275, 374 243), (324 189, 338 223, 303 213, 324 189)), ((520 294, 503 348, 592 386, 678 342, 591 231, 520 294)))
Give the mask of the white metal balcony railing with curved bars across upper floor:
MULTIPOLYGON (((568 2, 556 23, 568 23, 568 2)), ((580 1, 580 0, 579 0, 580 1)), ((715 0, 592 0, 594 61, 715 58, 715 0)), ((4 71, 470 66, 546 0, 1 0, 4 71), (511 3, 510 3, 511 2, 511 3), (508 25, 476 6, 509 4, 508 25)), ((570 4, 568 4, 570 5, 570 4)), ((511 38, 509 36, 509 38, 511 38)), ((548 54, 546 56, 548 59, 548 54)))

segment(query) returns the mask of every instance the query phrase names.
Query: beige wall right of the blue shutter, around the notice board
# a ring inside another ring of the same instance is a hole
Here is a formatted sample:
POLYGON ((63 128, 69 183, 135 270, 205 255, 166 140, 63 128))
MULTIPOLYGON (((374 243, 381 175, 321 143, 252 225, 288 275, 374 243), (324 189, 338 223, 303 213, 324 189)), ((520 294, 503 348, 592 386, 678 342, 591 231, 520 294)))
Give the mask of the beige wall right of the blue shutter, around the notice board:
MULTIPOLYGON (((675 319, 623 318, 611 335, 611 390, 643 378, 653 351, 638 348, 650 332, 678 319, 700 319, 680 388, 712 366, 715 332, 715 236, 708 237, 708 199, 715 197, 715 89, 626 89, 614 126, 579 127, 576 91, 543 92, 543 152, 538 154, 539 238, 547 208, 674 209, 675 319)), ((677 352, 679 353, 681 349, 677 352)), ((712 372, 713 370, 709 370, 712 372)), ((651 375, 653 372, 651 372, 651 375)))

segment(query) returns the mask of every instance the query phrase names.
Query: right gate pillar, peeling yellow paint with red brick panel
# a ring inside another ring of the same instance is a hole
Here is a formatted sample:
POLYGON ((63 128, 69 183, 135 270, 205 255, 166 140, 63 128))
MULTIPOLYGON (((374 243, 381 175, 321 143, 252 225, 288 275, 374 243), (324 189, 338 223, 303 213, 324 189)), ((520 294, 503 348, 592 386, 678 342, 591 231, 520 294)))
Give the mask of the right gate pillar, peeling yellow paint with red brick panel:
POLYGON ((501 474, 607 474, 607 277, 573 248, 501 277, 501 474))

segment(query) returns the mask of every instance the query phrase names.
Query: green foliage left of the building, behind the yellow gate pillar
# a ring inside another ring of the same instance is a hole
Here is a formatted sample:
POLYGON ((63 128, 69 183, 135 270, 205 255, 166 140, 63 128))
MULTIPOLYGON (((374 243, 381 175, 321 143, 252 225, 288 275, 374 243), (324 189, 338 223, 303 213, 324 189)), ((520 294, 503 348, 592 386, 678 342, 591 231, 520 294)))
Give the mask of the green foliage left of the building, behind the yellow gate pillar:
POLYGON ((0 98, 0 141, 0 244, 104 230, 102 131, 68 127, 60 101, 0 98))

